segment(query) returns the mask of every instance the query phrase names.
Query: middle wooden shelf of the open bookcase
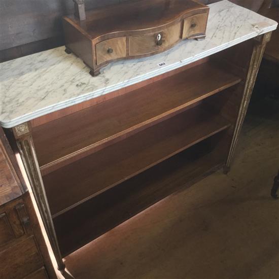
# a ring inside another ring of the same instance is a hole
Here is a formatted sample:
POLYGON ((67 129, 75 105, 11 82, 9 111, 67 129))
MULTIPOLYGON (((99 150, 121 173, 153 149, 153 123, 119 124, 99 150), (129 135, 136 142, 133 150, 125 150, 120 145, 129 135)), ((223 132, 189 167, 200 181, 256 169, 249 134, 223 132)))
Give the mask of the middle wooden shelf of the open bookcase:
POLYGON ((200 104, 50 172, 43 181, 51 213, 61 214, 229 126, 200 104))

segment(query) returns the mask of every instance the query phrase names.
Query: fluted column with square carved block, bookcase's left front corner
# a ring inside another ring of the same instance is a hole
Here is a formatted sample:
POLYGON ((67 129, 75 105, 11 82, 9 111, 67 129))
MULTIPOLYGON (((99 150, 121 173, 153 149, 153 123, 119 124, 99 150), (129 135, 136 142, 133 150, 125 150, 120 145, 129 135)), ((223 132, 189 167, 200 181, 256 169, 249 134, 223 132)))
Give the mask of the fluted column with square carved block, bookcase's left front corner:
POLYGON ((36 199, 55 259, 59 270, 64 270, 65 265, 62 261, 56 233, 54 230, 51 213, 47 201, 47 196, 34 150, 31 127, 29 123, 23 123, 13 127, 13 133, 17 141, 17 146, 32 188, 34 198, 36 199))

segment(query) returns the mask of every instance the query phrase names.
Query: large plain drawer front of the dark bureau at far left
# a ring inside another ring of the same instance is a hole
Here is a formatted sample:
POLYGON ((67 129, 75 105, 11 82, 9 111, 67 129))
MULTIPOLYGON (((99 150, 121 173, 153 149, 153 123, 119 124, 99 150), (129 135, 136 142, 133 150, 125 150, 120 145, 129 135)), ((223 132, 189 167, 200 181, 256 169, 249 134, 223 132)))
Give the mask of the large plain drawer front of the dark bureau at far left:
POLYGON ((0 253, 2 278, 22 278, 43 266, 32 236, 0 253))

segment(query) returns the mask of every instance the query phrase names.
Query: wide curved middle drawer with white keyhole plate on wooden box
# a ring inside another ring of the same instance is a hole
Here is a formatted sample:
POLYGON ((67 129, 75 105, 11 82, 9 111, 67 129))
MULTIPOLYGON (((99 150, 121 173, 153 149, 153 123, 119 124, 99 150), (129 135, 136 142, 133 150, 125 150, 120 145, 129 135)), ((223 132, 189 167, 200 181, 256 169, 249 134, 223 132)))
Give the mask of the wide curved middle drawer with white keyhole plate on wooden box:
POLYGON ((129 38, 129 55, 145 55, 163 51, 180 40, 181 22, 158 32, 129 38), (158 43, 158 39, 160 39, 158 43))

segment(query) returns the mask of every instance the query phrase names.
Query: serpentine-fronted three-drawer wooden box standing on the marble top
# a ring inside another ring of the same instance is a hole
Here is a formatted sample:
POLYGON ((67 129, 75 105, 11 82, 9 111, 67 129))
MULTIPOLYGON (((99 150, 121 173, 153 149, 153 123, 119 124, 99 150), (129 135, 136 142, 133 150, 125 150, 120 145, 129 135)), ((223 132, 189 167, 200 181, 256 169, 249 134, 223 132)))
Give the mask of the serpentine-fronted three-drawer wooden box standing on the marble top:
POLYGON ((79 56, 95 76, 111 61, 154 55, 184 39, 204 39, 208 12, 191 0, 140 0, 93 9, 81 19, 63 17, 65 51, 79 56))

